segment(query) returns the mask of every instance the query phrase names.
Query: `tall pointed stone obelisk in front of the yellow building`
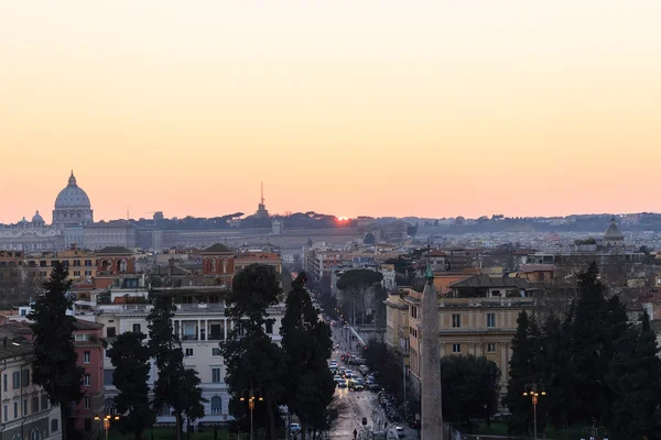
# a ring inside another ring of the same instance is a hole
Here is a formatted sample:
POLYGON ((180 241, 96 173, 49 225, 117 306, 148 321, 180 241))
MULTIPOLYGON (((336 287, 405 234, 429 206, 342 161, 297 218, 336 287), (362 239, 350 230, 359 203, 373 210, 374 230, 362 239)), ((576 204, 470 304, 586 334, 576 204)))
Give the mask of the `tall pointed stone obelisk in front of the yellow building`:
POLYGON ((438 297, 434 272, 427 264, 422 290, 420 366, 422 373, 422 440, 443 440, 441 413, 441 351, 438 346, 438 297))

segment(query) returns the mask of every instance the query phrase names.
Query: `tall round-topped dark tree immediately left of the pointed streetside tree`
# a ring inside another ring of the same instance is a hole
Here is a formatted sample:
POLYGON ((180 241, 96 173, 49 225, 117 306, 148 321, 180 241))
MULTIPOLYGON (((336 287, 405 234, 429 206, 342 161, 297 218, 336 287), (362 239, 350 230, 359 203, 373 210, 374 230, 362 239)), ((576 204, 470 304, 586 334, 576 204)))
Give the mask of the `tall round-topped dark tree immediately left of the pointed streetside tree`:
POLYGON ((226 299, 225 315, 235 322, 228 339, 219 346, 227 366, 226 382, 231 400, 229 410, 241 418, 248 407, 239 398, 249 389, 259 389, 263 400, 256 403, 254 426, 268 428, 271 439, 277 437, 280 418, 279 406, 283 403, 284 383, 288 375, 283 350, 266 333, 264 327, 273 319, 267 309, 278 304, 281 294, 278 274, 272 266, 252 264, 239 272, 232 292, 226 299))

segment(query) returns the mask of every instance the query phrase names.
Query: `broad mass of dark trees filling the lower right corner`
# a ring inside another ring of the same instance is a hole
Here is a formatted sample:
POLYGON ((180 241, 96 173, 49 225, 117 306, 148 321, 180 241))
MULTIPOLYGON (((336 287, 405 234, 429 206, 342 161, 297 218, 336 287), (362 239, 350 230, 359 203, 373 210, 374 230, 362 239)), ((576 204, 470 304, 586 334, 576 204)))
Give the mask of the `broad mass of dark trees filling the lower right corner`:
POLYGON ((661 438, 661 360, 649 316, 629 322, 619 297, 606 296, 594 262, 578 274, 577 289, 564 316, 519 315, 502 400, 510 431, 530 433, 532 405, 523 392, 541 384, 540 431, 595 424, 610 438, 661 438))

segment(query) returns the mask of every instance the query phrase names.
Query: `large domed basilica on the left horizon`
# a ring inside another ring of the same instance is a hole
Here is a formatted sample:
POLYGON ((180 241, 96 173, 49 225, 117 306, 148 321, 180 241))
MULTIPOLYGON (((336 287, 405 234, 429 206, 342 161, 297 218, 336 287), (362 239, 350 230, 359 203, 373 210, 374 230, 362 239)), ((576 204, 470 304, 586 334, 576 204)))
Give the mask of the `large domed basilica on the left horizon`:
POLYGON ((83 243, 83 227, 94 222, 89 197, 72 172, 68 184, 55 199, 53 223, 46 224, 35 212, 32 220, 23 217, 14 224, 0 224, 0 250, 56 251, 73 243, 83 243))

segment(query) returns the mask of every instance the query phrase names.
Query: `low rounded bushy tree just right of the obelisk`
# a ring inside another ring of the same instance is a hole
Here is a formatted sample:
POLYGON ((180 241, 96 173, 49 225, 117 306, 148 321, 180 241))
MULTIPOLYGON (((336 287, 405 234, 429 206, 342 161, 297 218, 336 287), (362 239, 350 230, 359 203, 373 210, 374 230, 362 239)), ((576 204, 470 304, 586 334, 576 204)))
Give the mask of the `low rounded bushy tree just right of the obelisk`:
POLYGON ((441 377, 443 420, 470 424, 497 410, 500 369, 494 361, 472 354, 445 356, 441 360, 441 377))

